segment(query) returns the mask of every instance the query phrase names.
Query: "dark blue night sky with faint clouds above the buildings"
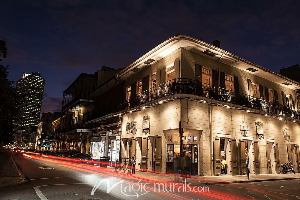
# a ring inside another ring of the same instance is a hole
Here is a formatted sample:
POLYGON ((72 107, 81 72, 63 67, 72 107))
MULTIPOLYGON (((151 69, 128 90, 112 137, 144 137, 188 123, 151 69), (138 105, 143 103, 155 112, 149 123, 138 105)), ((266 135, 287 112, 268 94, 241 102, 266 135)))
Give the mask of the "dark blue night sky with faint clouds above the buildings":
POLYGON ((61 110, 62 92, 81 72, 126 67, 176 34, 218 39, 276 72, 300 62, 300 1, 208 2, 0 0, 2 64, 14 81, 41 72, 48 112, 61 110))

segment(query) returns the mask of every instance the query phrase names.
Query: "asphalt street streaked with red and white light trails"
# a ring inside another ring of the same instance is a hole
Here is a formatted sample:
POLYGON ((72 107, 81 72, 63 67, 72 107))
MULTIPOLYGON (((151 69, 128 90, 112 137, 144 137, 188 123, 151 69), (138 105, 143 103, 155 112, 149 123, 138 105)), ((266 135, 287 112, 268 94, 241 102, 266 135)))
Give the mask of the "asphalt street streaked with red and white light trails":
POLYGON ((299 199, 300 180, 223 185, 187 185, 185 182, 127 177, 99 166, 86 166, 47 157, 13 158, 28 182, 0 188, 0 199, 299 199), (102 181, 102 182, 101 182, 102 181), (192 188, 191 190, 189 188, 192 188), (197 189, 202 189, 199 191, 197 189), (179 190, 179 191, 178 191, 179 190))

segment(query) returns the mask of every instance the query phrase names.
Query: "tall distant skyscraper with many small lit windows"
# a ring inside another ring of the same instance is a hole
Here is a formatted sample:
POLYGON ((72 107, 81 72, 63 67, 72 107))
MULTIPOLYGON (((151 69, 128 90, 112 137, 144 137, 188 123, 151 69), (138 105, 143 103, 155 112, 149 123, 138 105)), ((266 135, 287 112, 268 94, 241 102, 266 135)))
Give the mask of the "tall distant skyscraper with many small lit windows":
POLYGON ((25 131, 29 126, 37 126, 40 120, 45 80, 40 72, 23 73, 16 83, 16 89, 21 95, 19 116, 13 121, 14 130, 25 131))

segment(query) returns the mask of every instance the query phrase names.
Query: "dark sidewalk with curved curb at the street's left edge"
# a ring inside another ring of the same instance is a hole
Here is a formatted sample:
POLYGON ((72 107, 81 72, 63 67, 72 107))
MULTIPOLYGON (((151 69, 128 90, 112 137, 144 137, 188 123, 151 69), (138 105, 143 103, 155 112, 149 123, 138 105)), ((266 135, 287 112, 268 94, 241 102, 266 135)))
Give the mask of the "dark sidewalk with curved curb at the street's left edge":
POLYGON ((0 187, 22 183, 24 178, 10 153, 0 151, 0 187))

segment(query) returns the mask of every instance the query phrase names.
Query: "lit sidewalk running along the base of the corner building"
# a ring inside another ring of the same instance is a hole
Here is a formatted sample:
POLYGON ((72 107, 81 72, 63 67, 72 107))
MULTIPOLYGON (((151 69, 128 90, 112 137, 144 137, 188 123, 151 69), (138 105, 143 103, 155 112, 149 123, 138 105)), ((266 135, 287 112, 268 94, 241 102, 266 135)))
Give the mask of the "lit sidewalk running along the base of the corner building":
MULTIPOLYGON (((113 168, 112 168, 113 169, 113 168)), ((142 177, 145 180, 165 180, 174 181, 173 174, 156 174, 152 172, 143 172, 136 170, 135 175, 142 177)), ((187 178, 191 184, 197 185, 214 185, 214 184, 229 184, 229 183, 249 183, 261 181, 274 181, 274 180, 291 180, 300 179, 300 173, 296 174, 250 174, 250 180, 247 175, 222 175, 222 176, 192 176, 187 178)), ((182 181, 182 178, 180 178, 182 181)))

